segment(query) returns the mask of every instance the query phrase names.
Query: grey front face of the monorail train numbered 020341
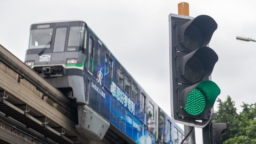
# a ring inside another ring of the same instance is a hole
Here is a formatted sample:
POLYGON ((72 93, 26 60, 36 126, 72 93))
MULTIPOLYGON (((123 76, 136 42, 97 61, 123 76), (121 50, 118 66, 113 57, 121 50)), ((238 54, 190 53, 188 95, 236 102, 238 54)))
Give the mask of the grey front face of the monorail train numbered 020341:
POLYGON ((82 21, 33 24, 25 63, 57 88, 66 88, 77 103, 85 102, 84 61, 87 25, 82 21), (67 89, 70 88, 70 89, 67 89))

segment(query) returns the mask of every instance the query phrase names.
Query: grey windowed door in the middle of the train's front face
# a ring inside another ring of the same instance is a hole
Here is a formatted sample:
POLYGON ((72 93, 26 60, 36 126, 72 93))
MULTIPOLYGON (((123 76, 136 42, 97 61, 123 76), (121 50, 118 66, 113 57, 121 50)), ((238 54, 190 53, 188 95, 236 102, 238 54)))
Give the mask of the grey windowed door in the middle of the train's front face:
POLYGON ((64 52, 68 35, 68 25, 69 22, 55 24, 52 61, 64 61, 64 52))

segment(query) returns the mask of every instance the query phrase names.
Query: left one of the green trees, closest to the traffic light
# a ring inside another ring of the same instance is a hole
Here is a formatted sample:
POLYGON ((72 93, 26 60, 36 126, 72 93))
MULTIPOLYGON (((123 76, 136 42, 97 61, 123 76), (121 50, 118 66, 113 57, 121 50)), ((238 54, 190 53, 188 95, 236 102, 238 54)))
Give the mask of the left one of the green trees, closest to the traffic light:
POLYGON ((224 142, 225 140, 238 136, 240 119, 236 112, 235 101, 232 101, 229 95, 225 101, 221 101, 218 98, 217 102, 219 104, 214 123, 227 123, 227 129, 221 135, 221 141, 224 142))

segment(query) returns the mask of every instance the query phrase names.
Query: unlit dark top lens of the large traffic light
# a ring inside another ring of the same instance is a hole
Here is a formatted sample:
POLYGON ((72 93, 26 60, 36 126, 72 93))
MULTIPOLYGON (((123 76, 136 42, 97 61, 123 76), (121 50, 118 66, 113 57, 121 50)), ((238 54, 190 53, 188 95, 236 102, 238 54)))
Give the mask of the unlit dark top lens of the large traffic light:
POLYGON ((184 32, 183 46, 188 50, 196 50, 203 44, 203 35, 200 29, 194 25, 189 25, 184 32))

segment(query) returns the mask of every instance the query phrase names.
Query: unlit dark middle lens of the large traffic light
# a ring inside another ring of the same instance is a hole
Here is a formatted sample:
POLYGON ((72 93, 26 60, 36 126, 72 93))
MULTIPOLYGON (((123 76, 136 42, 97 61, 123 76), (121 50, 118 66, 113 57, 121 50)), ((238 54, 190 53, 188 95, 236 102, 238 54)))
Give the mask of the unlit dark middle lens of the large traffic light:
POLYGON ((192 56, 185 64, 184 75, 188 81, 196 83, 204 77, 204 64, 195 56, 192 56))

